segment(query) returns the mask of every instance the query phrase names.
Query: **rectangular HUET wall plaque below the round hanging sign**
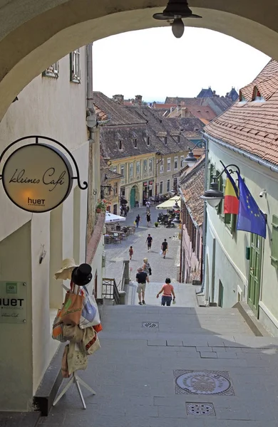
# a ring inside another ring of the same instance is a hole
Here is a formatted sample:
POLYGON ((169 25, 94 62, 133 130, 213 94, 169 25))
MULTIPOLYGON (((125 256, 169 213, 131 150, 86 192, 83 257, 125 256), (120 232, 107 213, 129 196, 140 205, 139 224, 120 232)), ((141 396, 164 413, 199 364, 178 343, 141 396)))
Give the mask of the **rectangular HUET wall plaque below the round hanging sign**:
POLYGON ((26 323, 27 285, 0 282, 0 323, 26 323))

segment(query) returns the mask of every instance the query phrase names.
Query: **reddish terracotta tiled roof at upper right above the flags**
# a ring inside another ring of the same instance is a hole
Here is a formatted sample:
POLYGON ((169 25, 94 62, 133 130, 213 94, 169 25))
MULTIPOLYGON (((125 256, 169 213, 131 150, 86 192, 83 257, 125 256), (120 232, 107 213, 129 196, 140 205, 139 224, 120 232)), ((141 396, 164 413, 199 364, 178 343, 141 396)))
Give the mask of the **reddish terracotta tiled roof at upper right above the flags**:
POLYGON ((229 110, 210 122, 205 132, 278 164, 278 63, 270 60, 257 78, 241 92, 247 102, 235 102, 229 110), (264 102, 252 101, 255 86, 264 102))

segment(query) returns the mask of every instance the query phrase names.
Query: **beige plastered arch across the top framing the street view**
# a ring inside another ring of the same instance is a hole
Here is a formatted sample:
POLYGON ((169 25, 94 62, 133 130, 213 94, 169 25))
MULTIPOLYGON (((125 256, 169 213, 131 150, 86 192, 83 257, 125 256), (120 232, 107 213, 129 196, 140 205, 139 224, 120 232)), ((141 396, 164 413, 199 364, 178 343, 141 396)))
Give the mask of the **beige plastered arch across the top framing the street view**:
MULTIPOLYGON (((166 3, 0 0, 0 120, 36 75, 73 49, 113 34, 168 25, 153 19, 166 3)), ((191 0, 189 6, 202 19, 185 19, 186 26, 225 33, 278 60, 277 0, 191 0)))

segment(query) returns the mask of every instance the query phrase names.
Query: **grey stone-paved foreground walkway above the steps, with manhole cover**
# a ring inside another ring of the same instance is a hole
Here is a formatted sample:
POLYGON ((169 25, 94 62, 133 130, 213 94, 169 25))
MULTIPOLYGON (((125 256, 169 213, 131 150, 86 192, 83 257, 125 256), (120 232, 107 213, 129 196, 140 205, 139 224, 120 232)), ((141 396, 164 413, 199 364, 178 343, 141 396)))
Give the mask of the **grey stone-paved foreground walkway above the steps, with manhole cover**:
POLYGON ((104 306, 102 323, 80 371, 96 396, 83 390, 84 411, 72 386, 41 425, 278 426, 278 339, 254 337, 237 310, 104 306))

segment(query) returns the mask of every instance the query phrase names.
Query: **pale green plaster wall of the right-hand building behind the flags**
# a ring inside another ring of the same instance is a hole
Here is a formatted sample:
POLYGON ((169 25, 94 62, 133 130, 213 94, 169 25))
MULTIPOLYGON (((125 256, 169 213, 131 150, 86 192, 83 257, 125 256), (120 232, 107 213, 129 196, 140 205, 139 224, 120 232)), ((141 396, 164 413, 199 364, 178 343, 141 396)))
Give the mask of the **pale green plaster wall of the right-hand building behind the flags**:
MULTIPOLYGON (((270 263, 272 214, 278 211, 278 176, 266 167, 236 154, 229 149, 220 147, 215 142, 209 142, 209 158, 217 169, 222 170, 220 159, 224 164, 237 164, 244 176, 245 183, 257 202, 259 209, 267 214, 267 238, 263 243, 262 280, 260 306, 272 322, 278 319, 278 274, 270 263), (267 196, 259 197, 260 191, 267 189, 267 196)), ((242 291, 242 298, 247 300, 249 278, 249 260, 245 258, 245 248, 250 246, 250 233, 237 231, 233 235, 225 223, 217 215, 215 209, 207 206, 207 249, 210 254, 210 270, 212 263, 212 237, 216 239, 215 248, 215 286, 219 280, 224 286, 224 307, 231 307, 237 302, 237 292, 242 291)), ((217 292, 215 292, 217 298, 217 292)), ((217 299, 216 299, 217 301, 217 299)), ((276 328, 278 327, 278 323, 276 328)), ((277 330, 278 331, 278 330, 277 330)), ((278 333, 278 332, 277 332, 278 333)))

